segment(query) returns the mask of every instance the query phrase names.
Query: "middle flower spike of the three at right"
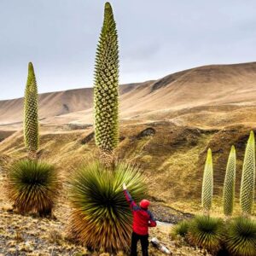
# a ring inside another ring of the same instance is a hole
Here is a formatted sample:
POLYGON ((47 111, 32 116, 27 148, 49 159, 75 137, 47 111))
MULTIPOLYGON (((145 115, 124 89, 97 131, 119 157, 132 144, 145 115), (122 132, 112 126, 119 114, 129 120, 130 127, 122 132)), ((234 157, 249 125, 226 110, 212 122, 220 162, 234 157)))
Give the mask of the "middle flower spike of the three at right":
POLYGON ((236 148, 232 146, 226 168, 224 179, 224 215, 231 216, 233 213, 235 200, 235 182, 236 182, 236 148))

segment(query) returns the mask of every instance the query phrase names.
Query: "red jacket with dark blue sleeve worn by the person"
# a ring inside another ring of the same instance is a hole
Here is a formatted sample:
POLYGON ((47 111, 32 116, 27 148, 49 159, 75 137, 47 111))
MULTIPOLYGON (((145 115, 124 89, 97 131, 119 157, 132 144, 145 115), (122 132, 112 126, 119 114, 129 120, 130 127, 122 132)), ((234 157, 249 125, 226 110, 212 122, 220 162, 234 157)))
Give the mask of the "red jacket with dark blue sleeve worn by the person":
POLYGON ((148 235, 148 227, 155 227, 156 222, 151 212, 148 209, 138 207, 135 201, 132 200, 127 189, 124 190, 125 198, 130 203, 133 214, 132 230, 138 235, 148 235))

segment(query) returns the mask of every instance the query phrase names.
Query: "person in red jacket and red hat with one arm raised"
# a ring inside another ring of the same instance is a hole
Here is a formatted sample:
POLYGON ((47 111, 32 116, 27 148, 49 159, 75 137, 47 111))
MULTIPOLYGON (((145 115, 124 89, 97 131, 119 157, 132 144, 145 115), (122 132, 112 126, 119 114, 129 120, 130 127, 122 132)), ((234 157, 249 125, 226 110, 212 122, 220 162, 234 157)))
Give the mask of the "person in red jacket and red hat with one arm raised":
POLYGON ((148 211, 150 201, 143 199, 137 206, 136 202, 132 200, 125 183, 123 184, 123 189, 133 214, 131 256, 137 256, 137 242, 139 240, 141 241, 143 256, 148 256, 148 227, 156 226, 152 213, 148 211))

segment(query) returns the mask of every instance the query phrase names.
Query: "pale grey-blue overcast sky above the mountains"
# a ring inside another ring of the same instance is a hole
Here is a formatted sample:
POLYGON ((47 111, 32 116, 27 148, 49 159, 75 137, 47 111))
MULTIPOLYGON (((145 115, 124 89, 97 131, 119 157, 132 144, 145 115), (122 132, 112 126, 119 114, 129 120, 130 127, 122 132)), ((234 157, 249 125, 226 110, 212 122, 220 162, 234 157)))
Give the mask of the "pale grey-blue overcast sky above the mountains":
MULTIPOLYGON (((0 99, 90 87, 102 0, 0 0, 0 99)), ((207 64, 256 61, 256 1, 113 0, 120 83, 207 64)))

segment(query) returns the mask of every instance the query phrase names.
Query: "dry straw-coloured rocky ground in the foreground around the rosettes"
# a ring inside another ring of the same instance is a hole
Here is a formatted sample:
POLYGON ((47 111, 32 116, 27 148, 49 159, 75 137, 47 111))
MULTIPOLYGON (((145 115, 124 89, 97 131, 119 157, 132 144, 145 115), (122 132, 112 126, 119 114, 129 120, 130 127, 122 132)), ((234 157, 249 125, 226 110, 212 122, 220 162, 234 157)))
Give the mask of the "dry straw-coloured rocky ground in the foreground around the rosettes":
MULTIPOLYGON (((5 179, 6 176, 2 170, 0 182, 3 184, 5 179)), ((71 208, 64 191, 65 189, 55 207, 53 217, 39 218, 36 215, 20 215, 15 212, 8 198, 5 197, 2 186, 0 193, 0 255, 109 255, 108 253, 90 252, 68 238, 67 224, 71 208)), ((157 237, 171 250, 172 255, 206 255, 205 252, 187 246, 183 241, 172 241, 170 236, 172 224, 183 218, 189 218, 189 214, 177 212, 159 202, 153 203, 152 212, 161 223, 157 228, 150 230, 150 239, 157 237)), ((162 254, 150 245, 149 255, 162 254)), ((124 256, 125 253, 120 252, 117 255, 124 256)))

